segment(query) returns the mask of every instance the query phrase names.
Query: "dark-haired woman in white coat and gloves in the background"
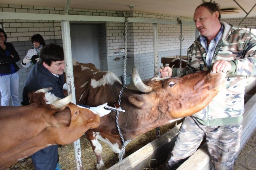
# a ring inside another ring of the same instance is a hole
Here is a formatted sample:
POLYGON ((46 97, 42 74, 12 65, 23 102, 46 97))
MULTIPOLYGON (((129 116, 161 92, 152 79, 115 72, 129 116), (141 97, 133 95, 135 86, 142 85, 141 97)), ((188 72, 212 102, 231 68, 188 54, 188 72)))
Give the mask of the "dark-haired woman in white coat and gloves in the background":
POLYGON ((45 46, 43 37, 40 34, 35 34, 31 37, 33 48, 29 49, 26 57, 21 62, 24 68, 28 68, 31 64, 34 65, 39 61, 39 54, 41 49, 45 46))

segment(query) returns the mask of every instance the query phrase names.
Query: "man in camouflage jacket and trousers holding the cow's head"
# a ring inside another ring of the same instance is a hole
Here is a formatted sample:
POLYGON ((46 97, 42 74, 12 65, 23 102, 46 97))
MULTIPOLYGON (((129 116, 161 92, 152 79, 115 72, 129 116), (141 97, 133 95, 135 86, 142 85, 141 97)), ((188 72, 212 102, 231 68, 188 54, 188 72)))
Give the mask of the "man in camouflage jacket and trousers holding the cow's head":
POLYGON ((194 12, 194 22, 201 35, 188 48, 187 66, 159 69, 161 77, 179 77, 210 69, 227 73, 226 88, 219 91, 206 108, 182 122, 166 169, 176 169, 197 150, 204 138, 216 170, 231 170, 237 160, 246 76, 256 76, 256 37, 219 20, 218 4, 199 5, 194 12))

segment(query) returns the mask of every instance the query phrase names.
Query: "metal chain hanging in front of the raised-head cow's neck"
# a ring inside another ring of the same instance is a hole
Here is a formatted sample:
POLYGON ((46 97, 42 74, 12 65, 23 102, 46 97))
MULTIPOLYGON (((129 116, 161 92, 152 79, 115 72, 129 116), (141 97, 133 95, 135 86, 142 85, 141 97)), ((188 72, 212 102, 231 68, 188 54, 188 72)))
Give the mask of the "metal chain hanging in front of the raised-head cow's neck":
MULTIPOLYGON (((123 72, 123 75, 124 75, 124 78, 123 78, 123 87, 120 91, 120 94, 119 94, 119 100, 118 100, 118 103, 119 105, 121 106, 121 97, 122 97, 122 92, 123 92, 123 89, 126 88, 125 87, 125 84, 126 84, 126 59, 127 59, 127 17, 125 17, 125 20, 124 20, 124 25, 125 25, 125 33, 124 33, 124 72, 123 72)), ((118 123, 118 118, 119 118, 119 111, 117 111, 116 113, 116 126, 117 126, 117 129, 118 129, 118 132, 120 134, 120 137, 121 137, 121 140, 123 142, 123 145, 122 145, 122 155, 121 155, 121 158, 119 161, 122 161, 123 159, 123 154, 124 154, 124 151, 125 151, 125 146, 130 142, 130 141, 124 141, 123 139, 123 135, 122 135, 122 132, 121 132, 121 129, 120 129, 120 126, 119 126, 119 123, 118 123)))

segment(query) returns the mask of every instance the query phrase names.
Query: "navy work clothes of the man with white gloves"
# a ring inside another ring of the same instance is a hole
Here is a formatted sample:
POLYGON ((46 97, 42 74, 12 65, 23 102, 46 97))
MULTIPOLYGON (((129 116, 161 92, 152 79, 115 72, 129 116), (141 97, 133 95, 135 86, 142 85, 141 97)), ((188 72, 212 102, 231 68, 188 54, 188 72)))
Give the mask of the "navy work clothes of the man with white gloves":
MULTIPOLYGON (((43 65, 36 63, 29 71, 29 75, 23 89, 21 104, 29 105, 29 92, 47 87, 52 87, 50 92, 55 96, 64 98, 65 96, 63 93, 63 83, 63 75, 56 77, 43 65)), ((58 145, 53 145, 41 149, 32 154, 30 157, 35 166, 35 169, 55 170, 59 160, 58 145)))

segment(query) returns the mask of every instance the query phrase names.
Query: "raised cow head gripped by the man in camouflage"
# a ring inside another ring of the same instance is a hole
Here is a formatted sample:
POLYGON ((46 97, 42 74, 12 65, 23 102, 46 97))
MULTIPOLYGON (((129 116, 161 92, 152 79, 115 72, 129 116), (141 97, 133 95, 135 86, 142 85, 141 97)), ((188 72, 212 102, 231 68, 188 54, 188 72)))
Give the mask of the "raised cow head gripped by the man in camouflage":
POLYGON ((133 70, 134 84, 147 94, 132 95, 129 101, 138 108, 157 106, 162 113, 172 118, 192 115, 212 101, 219 90, 224 88, 226 73, 201 71, 181 78, 168 78, 141 83, 136 68, 133 70))

